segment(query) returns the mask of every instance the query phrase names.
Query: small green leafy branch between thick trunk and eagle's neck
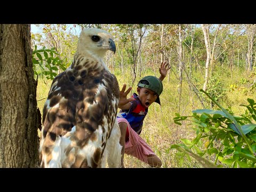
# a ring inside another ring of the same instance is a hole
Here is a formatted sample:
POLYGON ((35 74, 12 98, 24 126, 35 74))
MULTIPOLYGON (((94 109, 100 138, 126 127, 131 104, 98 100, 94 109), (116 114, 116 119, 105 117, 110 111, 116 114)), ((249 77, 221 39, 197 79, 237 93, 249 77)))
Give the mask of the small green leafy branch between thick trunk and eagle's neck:
POLYGON ((57 71, 59 69, 66 70, 63 66, 62 60, 59 58, 59 53, 55 51, 55 48, 37 50, 35 45, 35 50, 32 53, 33 69, 34 74, 38 76, 45 76, 47 79, 53 80, 57 76, 57 71))

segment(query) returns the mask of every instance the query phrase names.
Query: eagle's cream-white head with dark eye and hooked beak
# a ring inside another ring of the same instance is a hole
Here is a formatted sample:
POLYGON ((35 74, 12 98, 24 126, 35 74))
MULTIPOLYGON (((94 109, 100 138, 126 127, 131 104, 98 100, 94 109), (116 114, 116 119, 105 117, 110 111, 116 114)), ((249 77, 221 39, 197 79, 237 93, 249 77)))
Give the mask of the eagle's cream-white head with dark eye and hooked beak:
POLYGON ((90 52, 94 57, 103 59, 108 50, 116 52, 116 45, 107 31, 97 28, 87 28, 81 31, 78 39, 77 52, 90 52))

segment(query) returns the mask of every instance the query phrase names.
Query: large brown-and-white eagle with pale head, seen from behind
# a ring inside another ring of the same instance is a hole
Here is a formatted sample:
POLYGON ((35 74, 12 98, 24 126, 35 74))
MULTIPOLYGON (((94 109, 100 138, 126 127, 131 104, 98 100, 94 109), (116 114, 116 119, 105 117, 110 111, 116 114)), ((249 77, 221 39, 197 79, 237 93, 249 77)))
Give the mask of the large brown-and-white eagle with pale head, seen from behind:
POLYGON ((72 64, 53 79, 43 108, 41 167, 121 166, 119 86, 103 61, 108 50, 116 51, 111 34, 82 30, 72 64))

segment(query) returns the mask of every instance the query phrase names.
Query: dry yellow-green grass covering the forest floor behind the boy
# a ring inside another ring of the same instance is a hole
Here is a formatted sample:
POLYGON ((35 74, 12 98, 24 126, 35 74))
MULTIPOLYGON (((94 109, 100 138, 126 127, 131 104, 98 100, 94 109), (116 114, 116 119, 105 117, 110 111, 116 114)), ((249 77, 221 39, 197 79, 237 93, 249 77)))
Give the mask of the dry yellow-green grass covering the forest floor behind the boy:
MULTIPOLYGON (((126 69, 128 70, 128 69, 126 69)), ((220 70, 221 71, 221 70, 220 70)), ((155 75, 158 76, 158 71, 150 71, 147 73, 142 73, 142 76, 146 75, 155 75)), ((124 83, 127 86, 131 86, 131 77, 128 71, 124 71, 121 75, 120 71, 115 73, 119 86, 122 87, 124 83)), ((227 90, 225 98, 220 100, 220 104, 227 108, 231 107, 236 115, 241 115, 244 113, 244 107, 240 106, 247 104, 247 98, 256 100, 256 94, 253 93, 253 90, 250 90, 250 87, 243 88, 243 86, 250 85, 250 82, 247 84, 241 84, 241 78, 247 78, 250 81, 255 78, 255 76, 250 77, 251 74, 241 73, 241 71, 233 71, 232 76, 230 74, 222 74, 220 81, 223 83, 223 88, 227 90), (230 85, 237 85, 233 90, 230 89, 230 85)), ((139 79, 135 81, 135 85, 138 83, 139 79)), ((197 89, 202 89, 203 87, 203 75, 201 73, 193 75, 194 84, 197 85, 197 89), (195 83, 196 82, 196 83, 195 83)), ((43 111, 44 102, 46 101, 47 94, 50 90, 52 81, 43 81, 38 79, 37 86, 37 105, 43 111)), ((136 87, 133 85, 133 90, 136 90, 136 87)), ((163 167, 181 167, 179 164, 179 159, 175 156, 175 150, 170 150, 170 146, 174 143, 180 143, 180 139, 188 138, 191 139, 194 137, 194 132, 189 129, 187 122, 182 122, 182 125, 179 126, 173 123, 173 118, 175 113, 180 113, 180 115, 187 116, 191 115, 191 111, 195 109, 202 109, 201 102, 199 101, 195 92, 189 89, 187 78, 183 78, 182 83, 182 93, 178 94, 178 80, 173 73, 170 75, 168 81, 167 77, 163 81, 164 90, 161 94, 161 106, 157 103, 153 103, 149 107, 148 115, 145 118, 141 137, 151 146, 155 151, 157 156, 162 159, 163 167)), ((255 89, 254 89, 255 91, 255 89)), ((210 105, 206 104, 206 108, 210 108, 210 105)), ((125 155, 124 157, 125 167, 148 167, 147 164, 139 161, 138 159, 125 155)), ((185 160, 182 167, 201 167, 195 161, 187 162, 185 160)))

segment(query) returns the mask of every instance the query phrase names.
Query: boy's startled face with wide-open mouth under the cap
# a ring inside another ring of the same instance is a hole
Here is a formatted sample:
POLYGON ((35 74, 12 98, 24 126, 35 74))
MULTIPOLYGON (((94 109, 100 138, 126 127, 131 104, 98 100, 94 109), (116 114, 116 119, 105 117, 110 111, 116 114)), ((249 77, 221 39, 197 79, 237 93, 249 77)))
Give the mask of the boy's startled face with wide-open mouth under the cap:
POLYGON ((141 105, 148 108, 157 99, 157 94, 145 87, 137 87, 138 98, 140 99, 141 105))

